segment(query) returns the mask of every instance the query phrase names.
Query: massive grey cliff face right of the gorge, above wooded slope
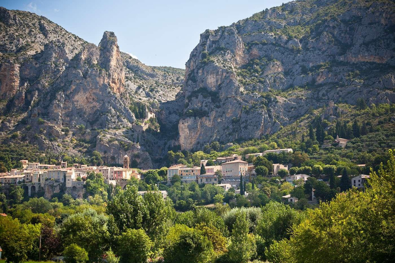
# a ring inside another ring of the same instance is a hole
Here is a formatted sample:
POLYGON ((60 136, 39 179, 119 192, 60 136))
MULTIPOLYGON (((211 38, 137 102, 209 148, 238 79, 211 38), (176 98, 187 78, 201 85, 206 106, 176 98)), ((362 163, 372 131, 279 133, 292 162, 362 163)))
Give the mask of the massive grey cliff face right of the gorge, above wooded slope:
POLYGON ((206 30, 186 63, 179 144, 259 138, 329 100, 394 102, 394 28, 391 1, 306 0, 206 30))

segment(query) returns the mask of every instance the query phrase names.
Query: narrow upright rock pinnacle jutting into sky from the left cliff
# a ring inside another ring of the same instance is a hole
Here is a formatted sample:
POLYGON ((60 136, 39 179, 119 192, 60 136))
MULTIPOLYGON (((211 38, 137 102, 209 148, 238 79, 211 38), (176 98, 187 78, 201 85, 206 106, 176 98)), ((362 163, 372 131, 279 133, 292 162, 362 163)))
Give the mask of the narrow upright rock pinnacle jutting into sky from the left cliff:
POLYGON ((122 66, 121 52, 114 32, 105 31, 99 43, 99 65, 109 72, 109 86, 115 93, 124 91, 125 72, 122 66))

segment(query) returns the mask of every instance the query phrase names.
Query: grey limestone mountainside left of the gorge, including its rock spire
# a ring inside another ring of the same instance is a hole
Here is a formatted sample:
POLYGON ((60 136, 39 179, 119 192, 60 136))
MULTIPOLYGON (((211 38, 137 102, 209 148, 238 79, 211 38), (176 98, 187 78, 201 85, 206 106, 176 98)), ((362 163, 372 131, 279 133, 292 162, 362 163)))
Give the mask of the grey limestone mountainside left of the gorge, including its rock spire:
POLYGON ((158 111, 175 98, 183 76, 182 69, 146 66, 121 52, 113 32, 96 46, 43 16, 0 7, 2 143, 71 155, 99 151, 112 164, 127 153, 151 168, 147 151, 160 155, 164 142, 132 129, 131 106, 158 111))

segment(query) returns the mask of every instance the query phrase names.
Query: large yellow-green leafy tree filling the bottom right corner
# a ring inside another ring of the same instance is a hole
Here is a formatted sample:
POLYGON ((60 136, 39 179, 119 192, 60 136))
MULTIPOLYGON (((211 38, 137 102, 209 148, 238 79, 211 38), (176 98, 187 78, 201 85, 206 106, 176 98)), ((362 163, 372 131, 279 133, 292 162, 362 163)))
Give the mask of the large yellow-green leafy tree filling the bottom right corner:
POLYGON ((395 152, 386 168, 370 173, 370 187, 338 194, 293 228, 291 262, 391 262, 395 256, 395 152), (341 240, 341 241, 339 241, 341 240))

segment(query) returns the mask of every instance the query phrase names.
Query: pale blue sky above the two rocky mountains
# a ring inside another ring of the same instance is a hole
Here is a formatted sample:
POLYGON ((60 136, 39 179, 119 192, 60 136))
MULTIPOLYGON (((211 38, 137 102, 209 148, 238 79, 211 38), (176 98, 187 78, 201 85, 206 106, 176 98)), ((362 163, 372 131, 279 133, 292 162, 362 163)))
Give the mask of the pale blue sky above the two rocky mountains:
POLYGON ((0 6, 43 15, 82 39, 99 44, 114 31, 121 51, 151 66, 185 68, 206 29, 227 26, 278 0, 0 0, 0 6))

